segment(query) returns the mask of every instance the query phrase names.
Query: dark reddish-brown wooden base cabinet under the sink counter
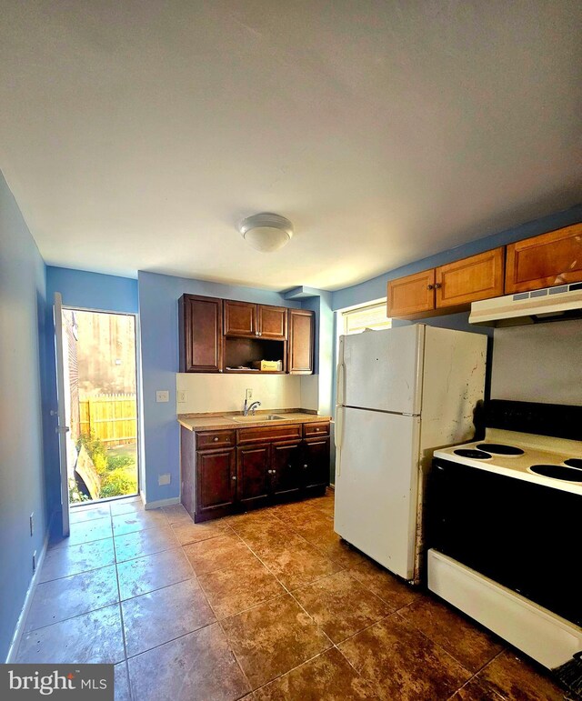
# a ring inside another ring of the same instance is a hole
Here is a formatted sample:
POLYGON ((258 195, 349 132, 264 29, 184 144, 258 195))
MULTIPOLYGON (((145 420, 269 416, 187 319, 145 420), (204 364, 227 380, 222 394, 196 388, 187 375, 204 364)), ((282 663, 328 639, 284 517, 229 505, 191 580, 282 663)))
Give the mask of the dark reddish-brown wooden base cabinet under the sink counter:
POLYGON ((181 429, 182 504, 196 522, 319 496, 329 484, 329 423, 181 429))

